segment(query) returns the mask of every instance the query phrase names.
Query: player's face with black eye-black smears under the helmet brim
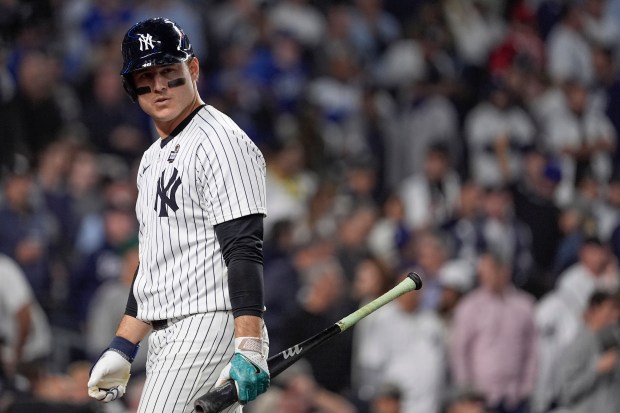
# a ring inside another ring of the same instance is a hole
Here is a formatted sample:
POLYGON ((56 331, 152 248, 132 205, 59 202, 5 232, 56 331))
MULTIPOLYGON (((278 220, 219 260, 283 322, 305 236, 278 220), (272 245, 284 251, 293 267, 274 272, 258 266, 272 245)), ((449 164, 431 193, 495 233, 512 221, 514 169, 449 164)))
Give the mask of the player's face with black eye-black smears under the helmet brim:
POLYGON ((133 74, 136 88, 150 89, 138 96, 138 103, 157 124, 180 122, 197 99, 195 80, 198 63, 175 63, 138 70, 133 74), (183 84, 178 84, 183 79, 183 84), (172 84, 170 83, 172 82, 172 84), (171 87, 172 86, 172 87, 171 87))

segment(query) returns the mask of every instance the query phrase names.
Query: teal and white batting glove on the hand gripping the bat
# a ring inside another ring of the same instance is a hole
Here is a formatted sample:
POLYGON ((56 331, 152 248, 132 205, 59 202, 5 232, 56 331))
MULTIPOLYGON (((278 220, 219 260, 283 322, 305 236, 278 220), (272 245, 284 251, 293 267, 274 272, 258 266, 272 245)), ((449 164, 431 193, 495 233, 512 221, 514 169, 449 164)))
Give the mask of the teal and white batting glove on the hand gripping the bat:
POLYGON ((216 386, 232 379, 237 387, 239 403, 246 404, 269 387, 267 355, 269 342, 256 337, 235 338, 235 354, 224 367, 216 386))

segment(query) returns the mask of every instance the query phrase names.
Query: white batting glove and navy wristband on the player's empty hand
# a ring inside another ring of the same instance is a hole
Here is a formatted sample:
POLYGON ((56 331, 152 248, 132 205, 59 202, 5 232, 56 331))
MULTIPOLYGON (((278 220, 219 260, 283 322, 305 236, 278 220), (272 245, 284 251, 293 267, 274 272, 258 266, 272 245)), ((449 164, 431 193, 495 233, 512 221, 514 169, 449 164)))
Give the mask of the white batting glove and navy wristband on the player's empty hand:
POLYGON ((115 337, 90 371, 88 395, 104 403, 122 397, 127 390, 131 362, 139 346, 123 337, 115 337))

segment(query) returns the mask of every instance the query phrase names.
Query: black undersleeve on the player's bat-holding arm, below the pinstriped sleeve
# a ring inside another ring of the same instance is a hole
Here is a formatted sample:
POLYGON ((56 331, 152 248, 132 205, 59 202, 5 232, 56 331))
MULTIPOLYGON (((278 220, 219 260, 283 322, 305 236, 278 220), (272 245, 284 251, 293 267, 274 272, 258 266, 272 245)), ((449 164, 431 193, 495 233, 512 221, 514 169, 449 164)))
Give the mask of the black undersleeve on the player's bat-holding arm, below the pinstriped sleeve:
POLYGON ((263 217, 254 214, 222 222, 215 234, 228 268, 228 293, 233 316, 262 317, 263 217))

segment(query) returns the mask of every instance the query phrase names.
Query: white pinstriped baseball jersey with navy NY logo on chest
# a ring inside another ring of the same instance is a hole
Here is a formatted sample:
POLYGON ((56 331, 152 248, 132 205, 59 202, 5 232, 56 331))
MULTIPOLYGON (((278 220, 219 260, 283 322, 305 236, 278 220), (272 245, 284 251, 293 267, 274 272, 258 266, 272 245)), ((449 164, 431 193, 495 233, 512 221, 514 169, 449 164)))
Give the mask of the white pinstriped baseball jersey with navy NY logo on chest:
POLYGON ((145 151, 137 183, 137 318, 230 310, 214 225, 266 214, 260 150, 228 116, 203 106, 145 151))

